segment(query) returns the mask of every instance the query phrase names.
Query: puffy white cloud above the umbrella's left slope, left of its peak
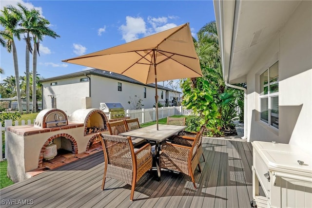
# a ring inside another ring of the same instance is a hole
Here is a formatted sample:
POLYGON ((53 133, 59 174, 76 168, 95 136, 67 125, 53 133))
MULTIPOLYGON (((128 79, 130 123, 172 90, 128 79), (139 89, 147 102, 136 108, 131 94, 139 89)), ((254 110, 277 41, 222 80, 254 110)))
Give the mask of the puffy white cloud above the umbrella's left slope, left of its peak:
POLYGON ((127 16, 126 25, 121 25, 119 28, 122 32, 122 39, 126 42, 130 42, 138 39, 139 34, 146 33, 146 25, 143 18, 134 18, 127 16))

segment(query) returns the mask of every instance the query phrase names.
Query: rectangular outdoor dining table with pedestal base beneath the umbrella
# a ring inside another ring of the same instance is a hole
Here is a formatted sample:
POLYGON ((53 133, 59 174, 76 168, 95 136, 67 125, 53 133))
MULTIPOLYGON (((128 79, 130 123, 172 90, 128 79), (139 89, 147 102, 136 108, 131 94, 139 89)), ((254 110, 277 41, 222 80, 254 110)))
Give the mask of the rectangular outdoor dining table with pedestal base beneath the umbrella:
POLYGON ((159 124, 157 130, 155 124, 152 126, 139 128, 133 131, 119 133, 118 135, 143 138, 146 139, 148 142, 155 144, 156 168, 158 180, 160 180, 160 167, 159 167, 160 144, 170 136, 177 134, 178 132, 184 130, 185 128, 186 126, 159 124))

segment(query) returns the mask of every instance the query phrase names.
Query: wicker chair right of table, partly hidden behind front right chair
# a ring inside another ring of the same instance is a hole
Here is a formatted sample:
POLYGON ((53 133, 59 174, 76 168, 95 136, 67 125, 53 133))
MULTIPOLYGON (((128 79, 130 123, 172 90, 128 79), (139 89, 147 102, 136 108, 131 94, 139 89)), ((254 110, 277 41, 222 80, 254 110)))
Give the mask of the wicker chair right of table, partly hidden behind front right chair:
MULTIPOLYGON (((199 138, 199 142, 198 142, 198 150, 197 151, 198 151, 198 157, 200 158, 200 155, 202 155, 204 161, 206 161, 205 157, 204 157, 202 145, 201 145, 204 131, 205 131, 205 125, 203 125, 199 130, 200 138, 199 138)), ((181 131, 178 133, 178 136, 173 138, 173 143, 192 147, 193 142, 194 142, 194 138, 196 135, 197 135, 197 132, 181 131), (186 138, 185 138, 185 136, 186 136, 186 138), (193 139, 189 139, 188 137, 193 137, 193 139)))

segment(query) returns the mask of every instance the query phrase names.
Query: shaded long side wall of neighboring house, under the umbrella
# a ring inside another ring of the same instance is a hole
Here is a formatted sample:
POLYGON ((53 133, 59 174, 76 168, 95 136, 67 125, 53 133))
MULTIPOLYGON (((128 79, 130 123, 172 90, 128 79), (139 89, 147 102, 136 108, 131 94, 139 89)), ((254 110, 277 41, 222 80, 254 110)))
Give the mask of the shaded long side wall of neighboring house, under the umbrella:
MULTIPOLYGON (((124 109, 132 109, 129 105, 130 97, 134 99, 135 95, 142 99, 142 108, 153 108, 155 104, 155 88, 138 85, 130 82, 120 81, 100 76, 91 76, 91 100, 93 108, 99 108, 100 103, 121 103, 124 109), (118 82, 121 83, 122 91, 118 91, 118 82), (146 98, 143 92, 146 87, 146 98)), ((160 103, 166 101, 166 91, 158 89, 158 100, 160 103), (161 99, 163 91, 163 99, 161 99)))

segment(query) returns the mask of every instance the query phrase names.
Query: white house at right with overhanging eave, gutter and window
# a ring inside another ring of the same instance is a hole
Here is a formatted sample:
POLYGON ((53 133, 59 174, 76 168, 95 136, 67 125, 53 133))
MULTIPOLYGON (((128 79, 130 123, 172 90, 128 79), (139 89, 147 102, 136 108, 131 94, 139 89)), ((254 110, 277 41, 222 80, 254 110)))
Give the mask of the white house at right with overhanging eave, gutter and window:
POLYGON ((223 78, 247 83, 248 141, 312 150, 312 1, 214 1, 223 78))

